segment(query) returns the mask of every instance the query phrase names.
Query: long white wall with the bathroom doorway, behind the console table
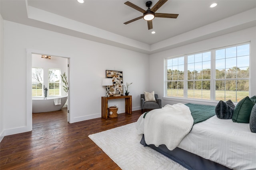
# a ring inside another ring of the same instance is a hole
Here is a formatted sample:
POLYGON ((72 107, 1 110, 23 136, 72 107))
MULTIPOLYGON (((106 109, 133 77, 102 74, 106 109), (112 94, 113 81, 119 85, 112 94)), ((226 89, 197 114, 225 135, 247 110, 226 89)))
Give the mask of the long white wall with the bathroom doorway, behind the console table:
MULTIPOLYGON (((149 87, 146 54, 4 20, 5 135, 31 130, 32 53, 70 58, 71 123, 101 117, 105 70, 123 71, 124 83, 133 82, 129 87, 132 110, 140 109, 140 94, 149 87)), ((118 104, 118 113, 124 112, 124 100, 109 104, 118 104)))

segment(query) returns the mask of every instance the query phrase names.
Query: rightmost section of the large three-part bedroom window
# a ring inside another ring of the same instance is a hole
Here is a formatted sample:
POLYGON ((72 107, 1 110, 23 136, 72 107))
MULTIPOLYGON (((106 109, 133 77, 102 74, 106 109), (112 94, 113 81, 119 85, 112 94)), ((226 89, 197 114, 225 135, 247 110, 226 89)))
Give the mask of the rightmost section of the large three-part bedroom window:
POLYGON ((249 96, 249 44, 217 49, 215 100, 238 102, 249 96))

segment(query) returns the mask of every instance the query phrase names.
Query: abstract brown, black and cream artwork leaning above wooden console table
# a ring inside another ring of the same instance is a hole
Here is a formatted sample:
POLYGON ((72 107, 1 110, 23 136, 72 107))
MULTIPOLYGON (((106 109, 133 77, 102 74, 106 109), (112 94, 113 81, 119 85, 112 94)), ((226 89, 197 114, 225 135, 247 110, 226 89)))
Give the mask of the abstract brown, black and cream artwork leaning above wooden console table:
POLYGON ((123 96, 123 72, 106 70, 106 78, 112 78, 113 86, 110 86, 109 96, 123 96))

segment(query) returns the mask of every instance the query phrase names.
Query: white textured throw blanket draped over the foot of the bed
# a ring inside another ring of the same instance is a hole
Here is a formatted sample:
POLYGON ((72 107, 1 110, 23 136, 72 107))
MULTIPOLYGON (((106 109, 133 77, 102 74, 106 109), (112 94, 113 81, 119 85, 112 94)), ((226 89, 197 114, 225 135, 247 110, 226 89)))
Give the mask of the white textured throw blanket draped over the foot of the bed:
POLYGON ((194 120, 190 109, 184 104, 166 105, 150 111, 145 119, 142 114, 136 122, 138 134, 144 134, 148 145, 166 145, 175 149, 192 129, 194 120))

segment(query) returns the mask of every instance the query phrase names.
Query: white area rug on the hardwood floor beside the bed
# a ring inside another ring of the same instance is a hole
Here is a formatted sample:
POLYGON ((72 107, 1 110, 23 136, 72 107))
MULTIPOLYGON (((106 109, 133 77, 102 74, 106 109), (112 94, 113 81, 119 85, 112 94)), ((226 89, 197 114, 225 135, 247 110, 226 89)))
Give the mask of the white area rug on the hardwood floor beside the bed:
POLYGON ((122 170, 186 170, 180 164, 140 144, 135 123, 89 135, 122 170))

